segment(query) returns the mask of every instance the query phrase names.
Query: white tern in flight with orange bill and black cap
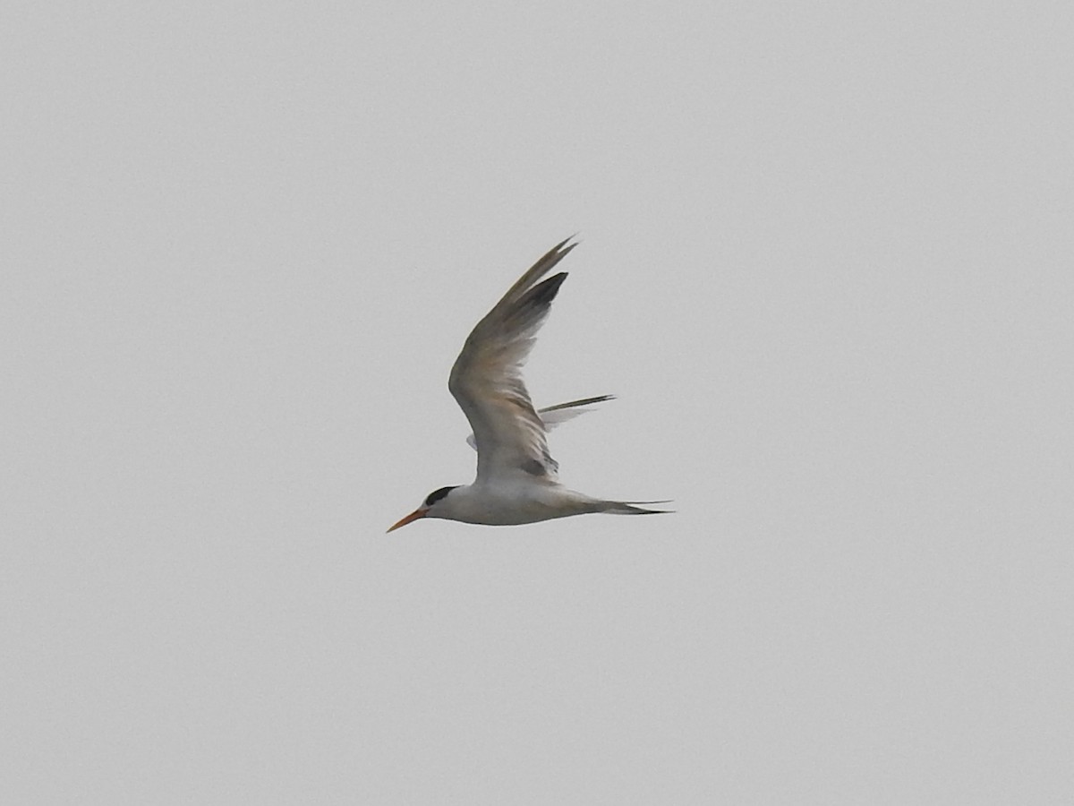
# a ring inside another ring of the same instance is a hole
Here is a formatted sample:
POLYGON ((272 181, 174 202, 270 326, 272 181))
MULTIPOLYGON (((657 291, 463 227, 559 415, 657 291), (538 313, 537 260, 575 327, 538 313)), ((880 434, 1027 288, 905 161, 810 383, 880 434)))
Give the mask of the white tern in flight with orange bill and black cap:
POLYGON ((514 526, 586 513, 657 515, 639 504, 666 501, 608 501, 575 492, 560 484, 558 463, 548 449, 548 431, 611 400, 610 394, 575 400, 537 411, 522 380, 522 364, 567 278, 560 272, 547 279, 577 244, 556 244, 508 289, 463 345, 451 368, 448 389, 474 433, 477 478, 471 485, 441 487, 421 506, 388 531, 419 518, 446 518, 466 523, 514 526))

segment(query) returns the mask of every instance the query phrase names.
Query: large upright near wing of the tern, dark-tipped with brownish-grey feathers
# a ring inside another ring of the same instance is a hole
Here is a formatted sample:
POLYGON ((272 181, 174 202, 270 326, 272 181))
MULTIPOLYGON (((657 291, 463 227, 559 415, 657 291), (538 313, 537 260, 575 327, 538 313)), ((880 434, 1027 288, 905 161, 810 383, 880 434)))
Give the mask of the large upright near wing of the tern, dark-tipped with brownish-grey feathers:
POLYGON ((575 248, 567 241, 553 246, 508 289, 474 328, 451 368, 448 389, 474 430, 478 483, 517 474, 555 480, 558 465, 522 380, 522 364, 567 278, 560 272, 539 282, 575 248))

